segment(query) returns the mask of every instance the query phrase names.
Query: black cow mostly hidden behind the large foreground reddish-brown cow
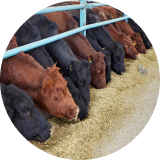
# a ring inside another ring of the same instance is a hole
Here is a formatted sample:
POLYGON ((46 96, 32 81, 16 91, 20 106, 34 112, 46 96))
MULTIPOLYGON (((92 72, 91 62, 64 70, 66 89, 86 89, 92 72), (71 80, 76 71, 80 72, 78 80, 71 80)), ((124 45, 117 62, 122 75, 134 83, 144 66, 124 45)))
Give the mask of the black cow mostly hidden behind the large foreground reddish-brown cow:
MULTIPOLYGON (((43 32, 45 32, 45 31, 46 30, 43 30, 43 32)), ((29 20, 26 20, 20 26, 20 28, 15 32, 14 35, 17 38, 18 46, 22 46, 22 45, 25 45, 25 44, 28 44, 28 43, 31 43, 31 42, 41 40, 39 29, 37 28, 37 26, 32 26, 31 23, 29 22, 29 20)), ((44 46, 29 50, 29 51, 27 51, 27 53, 29 53, 31 56, 34 56, 34 59, 36 61, 37 61, 37 57, 41 57, 41 54, 42 54, 42 59, 39 61, 39 64, 42 65, 43 68, 52 67, 52 65, 54 65, 52 57, 50 57, 49 53, 45 50, 44 46), (41 50, 40 50, 40 48, 41 48, 41 50), (44 65, 43 60, 45 62, 45 65, 44 65)), ((87 106, 84 103, 84 101, 82 100, 81 95, 80 95, 78 89, 73 84, 72 80, 69 77, 65 77, 65 79, 68 80, 68 81, 66 80, 67 81, 67 87, 69 86, 68 89, 69 89, 75 103, 77 104, 77 106, 80 109, 79 114, 78 114, 78 118, 80 118, 80 120, 82 120, 82 119, 86 118, 86 116, 87 116, 88 111, 85 111, 85 109, 88 110, 87 106)), ((47 113, 45 111, 40 111, 40 112, 42 113, 42 115, 46 119, 49 119, 49 118, 52 117, 49 113, 47 113)))

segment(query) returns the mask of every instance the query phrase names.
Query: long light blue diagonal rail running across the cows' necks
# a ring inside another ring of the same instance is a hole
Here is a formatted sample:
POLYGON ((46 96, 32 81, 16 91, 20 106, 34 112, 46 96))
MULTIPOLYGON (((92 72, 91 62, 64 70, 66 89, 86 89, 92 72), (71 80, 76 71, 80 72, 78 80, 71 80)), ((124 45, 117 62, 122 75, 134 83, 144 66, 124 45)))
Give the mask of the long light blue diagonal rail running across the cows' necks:
POLYGON ((43 46, 45 44, 57 41, 59 39, 62 39, 62 38, 68 37, 70 35, 76 34, 78 32, 81 32, 83 30, 107 25, 107 24, 114 23, 114 22, 121 21, 121 20, 125 20, 125 19, 128 19, 128 18, 130 18, 130 16, 120 17, 120 18, 116 18, 116 19, 112 19, 112 20, 108 20, 108 21, 103 21, 103 22, 98 22, 98 23, 94 23, 94 24, 90 24, 90 25, 85 25, 83 27, 79 27, 79 28, 76 28, 76 29, 73 29, 73 30, 70 30, 70 31, 67 31, 67 32, 49 37, 49 38, 45 38, 45 39, 42 39, 42 40, 39 40, 39 41, 36 41, 36 42, 32 42, 32 43, 29 43, 29 44, 26 44, 26 45, 23 45, 23 46, 5 51, 2 59, 14 56, 14 55, 18 54, 20 51, 26 52, 26 51, 29 51, 31 49, 43 46))

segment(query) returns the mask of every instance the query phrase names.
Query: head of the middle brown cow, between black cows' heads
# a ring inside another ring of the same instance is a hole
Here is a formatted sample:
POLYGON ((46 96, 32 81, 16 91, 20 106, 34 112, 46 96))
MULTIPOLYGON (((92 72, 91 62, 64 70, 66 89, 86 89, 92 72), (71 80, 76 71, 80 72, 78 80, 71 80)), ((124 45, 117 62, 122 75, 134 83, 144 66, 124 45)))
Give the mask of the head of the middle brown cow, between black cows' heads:
POLYGON ((88 56, 88 61, 92 62, 92 65, 90 67, 91 86, 93 86, 96 89, 106 87, 106 64, 104 62, 104 57, 105 55, 102 52, 97 52, 97 57, 93 57, 93 55, 88 56))

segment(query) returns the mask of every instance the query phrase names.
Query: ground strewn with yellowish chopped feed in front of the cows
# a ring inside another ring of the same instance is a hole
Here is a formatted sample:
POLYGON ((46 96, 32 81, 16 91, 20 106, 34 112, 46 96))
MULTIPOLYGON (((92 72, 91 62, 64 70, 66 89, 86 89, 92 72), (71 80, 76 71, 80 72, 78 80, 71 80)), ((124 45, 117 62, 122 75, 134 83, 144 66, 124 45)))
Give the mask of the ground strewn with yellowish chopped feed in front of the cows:
POLYGON ((160 95, 160 48, 141 54, 138 60, 125 59, 126 72, 111 74, 105 89, 90 88, 90 112, 87 119, 69 123, 53 117, 48 121, 54 133, 44 143, 29 141, 51 158, 90 160, 107 158, 129 143, 152 118, 160 95), (141 64, 147 74, 137 71, 141 64))

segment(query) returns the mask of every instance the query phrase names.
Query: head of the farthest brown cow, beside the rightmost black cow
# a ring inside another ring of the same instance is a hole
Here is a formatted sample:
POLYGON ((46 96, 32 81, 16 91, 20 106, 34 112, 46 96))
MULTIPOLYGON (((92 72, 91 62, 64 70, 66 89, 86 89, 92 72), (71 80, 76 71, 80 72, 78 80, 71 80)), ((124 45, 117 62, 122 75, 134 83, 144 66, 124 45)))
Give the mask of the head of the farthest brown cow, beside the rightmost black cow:
POLYGON ((146 53, 146 47, 143 43, 142 37, 139 33, 134 33, 131 36, 133 45, 135 46, 135 48, 137 49, 138 52, 140 53, 146 53))

